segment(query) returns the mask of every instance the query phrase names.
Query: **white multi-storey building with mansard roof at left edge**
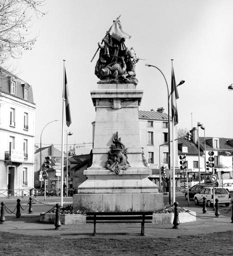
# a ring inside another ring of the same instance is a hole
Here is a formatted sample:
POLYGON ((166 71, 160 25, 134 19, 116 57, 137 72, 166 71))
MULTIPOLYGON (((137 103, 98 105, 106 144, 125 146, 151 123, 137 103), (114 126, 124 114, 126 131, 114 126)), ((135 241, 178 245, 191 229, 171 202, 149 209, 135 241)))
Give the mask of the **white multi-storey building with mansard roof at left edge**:
POLYGON ((27 195, 34 184, 32 88, 0 68, 0 196, 27 195))

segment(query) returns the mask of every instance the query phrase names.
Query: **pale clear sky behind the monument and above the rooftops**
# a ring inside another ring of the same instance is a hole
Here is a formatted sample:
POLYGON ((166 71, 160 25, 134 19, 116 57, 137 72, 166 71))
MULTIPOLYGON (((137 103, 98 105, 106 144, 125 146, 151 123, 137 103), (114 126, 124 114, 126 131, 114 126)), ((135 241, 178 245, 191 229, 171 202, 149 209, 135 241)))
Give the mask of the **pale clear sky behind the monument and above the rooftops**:
MULTIPOLYGON (((37 41, 32 50, 15 60, 17 75, 33 89, 36 103, 35 143, 42 128, 61 119, 63 59, 69 88, 72 131, 68 144, 92 141, 95 109, 90 91, 99 80, 94 75, 98 54, 90 62, 106 30, 119 14, 125 44, 145 60, 136 64, 137 89, 143 90, 140 110, 167 112, 171 60, 178 87, 177 128, 191 129, 200 121, 205 135, 233 137, 233 1, 232 0, 46 0, 46 15, 31 27, 37 41)), ((203 136, 202 130, 199 132, 203 136)), ((60 149, 61 121, 43 131, 42 144, 60 149)), ((66 143, 66 141, 65 141, 66 143)))

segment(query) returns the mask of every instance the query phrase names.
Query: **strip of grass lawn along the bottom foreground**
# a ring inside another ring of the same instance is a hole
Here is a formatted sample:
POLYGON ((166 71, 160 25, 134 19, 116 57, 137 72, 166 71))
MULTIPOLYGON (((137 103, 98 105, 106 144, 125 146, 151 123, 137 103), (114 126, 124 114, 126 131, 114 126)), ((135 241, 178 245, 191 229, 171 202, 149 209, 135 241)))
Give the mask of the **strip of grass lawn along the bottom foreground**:
MULTIPOLYGON (((233 227, 233 224, 232 224, 233 227)), ((146 236, 118 240, 91 238, 67 239, 60 236, 29 236, 0 232, 0 255, 10 256, 150 256, 150 255, 232 255, 233 230, 177 238, 146 236)))

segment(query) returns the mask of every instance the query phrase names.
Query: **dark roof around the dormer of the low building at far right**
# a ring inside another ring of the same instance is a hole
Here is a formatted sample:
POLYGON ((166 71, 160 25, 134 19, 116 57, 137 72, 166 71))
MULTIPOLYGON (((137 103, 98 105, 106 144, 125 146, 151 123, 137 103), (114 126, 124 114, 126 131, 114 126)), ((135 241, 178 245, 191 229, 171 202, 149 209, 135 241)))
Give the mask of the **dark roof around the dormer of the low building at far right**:
MULTIPOLYGON (((216 137, 219 141, 219 147, 215 148, 210 143, 208 143, 208 139, 212 139, 215 137, 205 137, 205 147, 206 149, 214 149, 214 150, 233 150, 233 138, 222 138, 216 137)), ((204 148, 204 137, 199 137, 200 146, 204 148)))

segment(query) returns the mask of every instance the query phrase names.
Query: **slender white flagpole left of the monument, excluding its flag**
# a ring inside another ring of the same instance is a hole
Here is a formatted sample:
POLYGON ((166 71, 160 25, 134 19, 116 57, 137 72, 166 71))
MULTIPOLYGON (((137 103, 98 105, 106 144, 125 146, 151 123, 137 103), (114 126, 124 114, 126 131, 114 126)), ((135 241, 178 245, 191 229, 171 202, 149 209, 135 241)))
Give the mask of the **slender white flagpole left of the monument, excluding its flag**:
POLYGON ((60 174, 60 206, 63 206, 63 179, 64 179, 64 62, 63 59, 63 89, 62 89, 62 127, 61 127, 61 174, 60 174))

